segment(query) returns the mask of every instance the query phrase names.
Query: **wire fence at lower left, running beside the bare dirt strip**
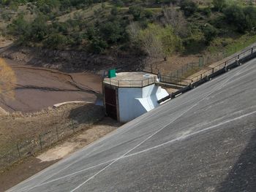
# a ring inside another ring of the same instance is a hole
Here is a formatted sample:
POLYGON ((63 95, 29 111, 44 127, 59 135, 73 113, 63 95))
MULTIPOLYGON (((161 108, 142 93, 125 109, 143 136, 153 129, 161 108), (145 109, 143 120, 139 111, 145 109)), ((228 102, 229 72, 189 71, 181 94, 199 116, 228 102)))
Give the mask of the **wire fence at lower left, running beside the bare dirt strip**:
POLYGON ((91 114, 94 115, 88 114, 86 118, 83 119, 83 126, 81 126, 79 120, 69 119, 64 125, 56 126, 55 128, 42 132, 36 137, 23 139, 23 141, 11 141, 8 146, 2 146, 0 151, 0 170, 12 166, 12 164, 15 164, 23 158, 45 150, 45 148, 56 142, 75 134, 81 128, 91 126, 104 116, 104 112, 100 108, 95 109, 91 114))

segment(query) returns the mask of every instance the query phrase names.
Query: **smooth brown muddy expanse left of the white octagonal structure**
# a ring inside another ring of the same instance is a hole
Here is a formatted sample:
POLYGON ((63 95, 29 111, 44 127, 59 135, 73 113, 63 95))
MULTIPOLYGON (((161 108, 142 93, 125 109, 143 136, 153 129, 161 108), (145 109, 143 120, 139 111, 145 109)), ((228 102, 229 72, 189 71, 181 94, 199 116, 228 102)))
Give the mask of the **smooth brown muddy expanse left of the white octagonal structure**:
POLYGON ((5 61, 17 77, 15 99, 0 96, 0 107, 9 112, 34 112, 64 101, 94 102, 101 92, 101 77, 96 74, 65 74, 5 61))

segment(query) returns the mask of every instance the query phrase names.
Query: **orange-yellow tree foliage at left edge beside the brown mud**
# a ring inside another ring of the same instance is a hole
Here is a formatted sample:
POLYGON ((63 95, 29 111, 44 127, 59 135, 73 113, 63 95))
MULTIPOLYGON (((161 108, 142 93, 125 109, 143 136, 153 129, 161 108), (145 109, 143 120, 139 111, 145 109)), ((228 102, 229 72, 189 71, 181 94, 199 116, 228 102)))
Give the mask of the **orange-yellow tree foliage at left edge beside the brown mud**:
POLYGON ((7 66, 4 59, 0 58, 0 95, 13 99, 15 83, 15 73, 10 66, 7 66))

